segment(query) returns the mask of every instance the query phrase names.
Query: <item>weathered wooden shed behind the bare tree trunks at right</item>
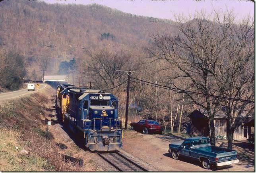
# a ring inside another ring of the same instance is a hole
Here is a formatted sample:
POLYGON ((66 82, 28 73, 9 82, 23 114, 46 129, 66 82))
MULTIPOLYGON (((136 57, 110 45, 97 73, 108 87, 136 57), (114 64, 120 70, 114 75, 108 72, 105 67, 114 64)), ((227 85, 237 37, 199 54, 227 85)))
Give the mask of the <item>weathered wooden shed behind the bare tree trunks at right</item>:
MULTIPOLYGON (((209 125, 209 115, 204 108, 199 110, 194 110, 188 117, 190 118, 190 133, 196 134, 198 136, 210 136, 210 125, 209 125)), ((223 111, 216 112, 214 116, 214 127, 215 127, 215 137, 217 138, 227 138, 227 118, 223 111)), ((244 129, 242 125, 235 129, 233 139, 235 140, 246 140, 250 136, 251 129, 244 129), (246 134, 245 134, 246 133, 246 134)))

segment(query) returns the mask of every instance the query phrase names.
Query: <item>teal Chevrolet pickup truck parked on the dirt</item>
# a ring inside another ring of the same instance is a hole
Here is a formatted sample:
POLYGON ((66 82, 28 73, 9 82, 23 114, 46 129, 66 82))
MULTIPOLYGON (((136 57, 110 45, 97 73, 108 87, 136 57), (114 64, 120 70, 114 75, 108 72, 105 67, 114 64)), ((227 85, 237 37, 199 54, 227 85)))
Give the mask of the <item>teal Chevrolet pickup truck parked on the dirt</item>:
POLYGON ((180 143, 171 143, 169 153, 174 159, 185 156, 199 160, 205 169, 209 169, 210 165, 219 167, 239 162, 237 151, 212 146, 207 137, 192 137, 180 143))

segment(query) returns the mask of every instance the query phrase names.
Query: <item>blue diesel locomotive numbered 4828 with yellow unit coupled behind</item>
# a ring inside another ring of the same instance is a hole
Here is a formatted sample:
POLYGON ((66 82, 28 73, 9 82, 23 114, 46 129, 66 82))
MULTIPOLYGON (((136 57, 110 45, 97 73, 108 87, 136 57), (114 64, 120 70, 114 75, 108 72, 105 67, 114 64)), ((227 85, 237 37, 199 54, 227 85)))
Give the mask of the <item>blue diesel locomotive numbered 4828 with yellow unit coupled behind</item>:
MULTIPOLYGON (((64 126, 73 131, 92 151, 113 151, 122 146, 118 119, 118 99, 111 93, 74 86, 58 86, 60 115, 64 126)), ((57 89, 58 90, 58 89, 57 89)))

